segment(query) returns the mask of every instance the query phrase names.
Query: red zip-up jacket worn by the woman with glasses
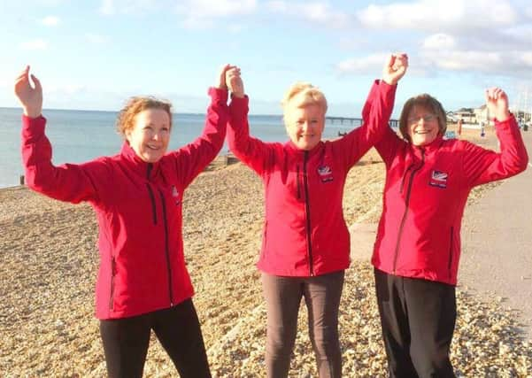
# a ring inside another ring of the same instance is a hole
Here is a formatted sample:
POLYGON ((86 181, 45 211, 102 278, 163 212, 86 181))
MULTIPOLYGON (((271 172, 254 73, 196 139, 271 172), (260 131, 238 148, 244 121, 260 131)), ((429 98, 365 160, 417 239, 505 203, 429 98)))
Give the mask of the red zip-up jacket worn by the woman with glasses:
POLYGON ((373 265, 388 274, 456 285, 469 191, 524 171, 527 150, 512 117, 496 121, 500 153, 441 136, 425 147, 390 128, 375 144, 386 182, 373 265))

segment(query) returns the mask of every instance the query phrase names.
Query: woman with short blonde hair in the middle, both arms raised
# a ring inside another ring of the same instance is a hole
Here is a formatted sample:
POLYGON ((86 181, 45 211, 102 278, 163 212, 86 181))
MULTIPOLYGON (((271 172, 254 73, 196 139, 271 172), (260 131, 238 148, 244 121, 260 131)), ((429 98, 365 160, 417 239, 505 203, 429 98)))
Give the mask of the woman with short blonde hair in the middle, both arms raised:
POLYGON ((291 86, 282 101, 287 143, 250 135, 248 97, 238 69, 227 72, 232 92, 227 141, 235 156, 263 180, 266 220, 258 269, 266 298, 266 375, 289 374, 304 298, 320 377, 342 376, 338 309, 344 270, 350 264, 343 220, 343 185, 349 170, 388 127, 396 83, 407 58, 392 56, 383 80, 372 88, 372 112, 364 124, 335 141, 321 139, 327 100, 310 83, 291 86))

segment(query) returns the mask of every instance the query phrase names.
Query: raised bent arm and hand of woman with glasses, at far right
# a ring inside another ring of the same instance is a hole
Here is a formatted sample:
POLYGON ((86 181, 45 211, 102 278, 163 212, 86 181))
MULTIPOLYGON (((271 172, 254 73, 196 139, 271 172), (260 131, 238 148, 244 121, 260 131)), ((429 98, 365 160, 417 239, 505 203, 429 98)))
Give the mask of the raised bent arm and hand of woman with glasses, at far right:
POLYGON ((511 177, 524 171, 528 154, 517 122, 508 109, 508 96, 503 89, 491 88, 485 93, 488 112, 494 117, 500 152, 466 143, 464 172, 472 186, 511 177))

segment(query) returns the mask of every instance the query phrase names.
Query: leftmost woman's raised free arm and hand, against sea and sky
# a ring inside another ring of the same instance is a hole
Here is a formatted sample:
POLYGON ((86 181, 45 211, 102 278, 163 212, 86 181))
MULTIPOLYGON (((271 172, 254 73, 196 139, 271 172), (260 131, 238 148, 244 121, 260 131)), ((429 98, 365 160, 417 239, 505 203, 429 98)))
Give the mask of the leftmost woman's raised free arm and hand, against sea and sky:
POLYGON ((25 168, 27 186, 48 197, 78 203, 83 200, 96 200, 94 176, 104 174, 101 161, 84 165, 65 164, 54 166, 51 163, 51 144, 42 117, 41 82, 31 75, 35 87, 30 83, 29 66, 15 80, 14 92, 24 110, 22 116, 22 163, 25 168))

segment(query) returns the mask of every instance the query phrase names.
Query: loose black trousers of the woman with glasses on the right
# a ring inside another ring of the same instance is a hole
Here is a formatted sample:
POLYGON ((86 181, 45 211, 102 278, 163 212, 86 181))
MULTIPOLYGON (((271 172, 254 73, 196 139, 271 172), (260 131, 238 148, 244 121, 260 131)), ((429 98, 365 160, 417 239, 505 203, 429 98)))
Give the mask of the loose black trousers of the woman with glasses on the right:
POLYGON ((454 377, 455 287, 374 270, 390 377, 454 377))

